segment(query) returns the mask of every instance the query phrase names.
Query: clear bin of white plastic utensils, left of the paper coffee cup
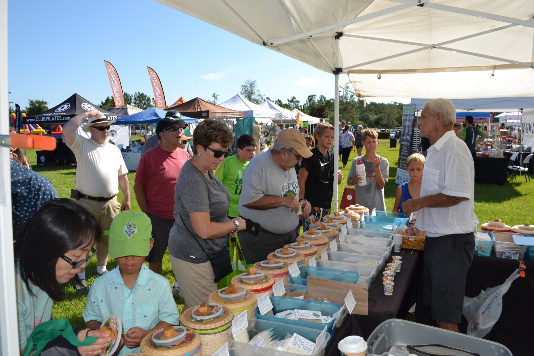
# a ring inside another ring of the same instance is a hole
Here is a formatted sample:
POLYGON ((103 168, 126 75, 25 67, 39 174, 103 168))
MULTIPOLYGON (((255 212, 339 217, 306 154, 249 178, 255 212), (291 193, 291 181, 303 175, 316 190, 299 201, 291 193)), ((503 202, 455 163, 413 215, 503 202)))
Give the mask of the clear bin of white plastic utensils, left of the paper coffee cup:
MULTIPOLYGON (((285 319, 281 319, 281 320, 285 320, 285 319)), ((248 339, 252 340, 252 338, 256 336, 258 333, 261 333, 261 331, 268 330, 268 329, 272 329, 273 338, 284 339, 287 334, 289 335, 299 334, 300 336, 307 338, 309 341, 314 342, 314 343, 322 331, 322 330, 306 328, 302 326, 287 325, 287 323, 285 322, 250 319, 248 321, 248 328, 247 328, 248 339)), ((323 344, 320 346, 316 346, 311 356, 324 356, 325 348, 329 340, 330 340, 330 335, 326 333, 325 342, 323 342, 323 344)), ((252 344, 235 341, 232 336, 232 333, 228 335, 228 341, 230 342, 231 347, 234 347, 235 349, 244 349, 249 352, 264 352, 266 354, 271 354, 271 355, 281 354, 281 355, 287 355, 287 356, 298 355, 296 353, 284 352, 284 351, 280 352, 278 350, 269 349, 268 347, 255 346, 252 344)), ((247 353, 247 355, 249 354, 250 353, 247 353)))

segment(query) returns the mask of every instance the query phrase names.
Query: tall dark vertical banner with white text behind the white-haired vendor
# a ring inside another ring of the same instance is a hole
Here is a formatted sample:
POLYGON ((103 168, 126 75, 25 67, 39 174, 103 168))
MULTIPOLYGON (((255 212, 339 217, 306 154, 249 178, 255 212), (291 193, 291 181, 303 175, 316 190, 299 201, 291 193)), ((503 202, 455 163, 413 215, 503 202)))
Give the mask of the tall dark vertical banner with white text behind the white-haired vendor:
POLYGON ((406 170, 408 157, 412 154, 413 129, 415 127, 415 105, 404 105, 402 110, 402 130, 399 138, 399 163, 395 183, 403 184, 410 180, 406 170))

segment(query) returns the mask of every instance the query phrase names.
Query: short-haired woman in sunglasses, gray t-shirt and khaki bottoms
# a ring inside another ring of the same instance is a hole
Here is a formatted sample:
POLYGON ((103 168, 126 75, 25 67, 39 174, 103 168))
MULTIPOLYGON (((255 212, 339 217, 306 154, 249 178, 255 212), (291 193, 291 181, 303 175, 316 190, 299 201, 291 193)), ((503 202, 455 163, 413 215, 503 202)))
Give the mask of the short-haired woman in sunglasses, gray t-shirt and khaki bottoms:
POLYGON ((217 282, 232 272, 228 236, 245 229, 242 218, 228 219, 230 195, 213 175, 232 143, 222 121, 202 121, 193 132, 193 157, 176 182, 169 258, 189 307, 206 302, 217 282))

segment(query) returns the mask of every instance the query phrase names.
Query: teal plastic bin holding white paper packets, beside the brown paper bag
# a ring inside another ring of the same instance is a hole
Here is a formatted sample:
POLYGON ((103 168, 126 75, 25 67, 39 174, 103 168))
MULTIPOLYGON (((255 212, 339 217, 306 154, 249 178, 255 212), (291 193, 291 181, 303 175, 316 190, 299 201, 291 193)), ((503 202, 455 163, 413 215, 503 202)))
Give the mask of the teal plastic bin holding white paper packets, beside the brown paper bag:
MULTIPOLYGON (((272 303, 272 312, 274 315, 285 312, 286 310, 293 309, 303 309, 303 310, 312 310, 321 312, 321 315, 327 315, 328 317, 333 317, 333 315, 341 309, 339 304, 318 302, 317 300, 307 300, 307 299, 297 299, 297 298, 286 298, 286 297, 271 297, 272 303)), ((328 334, 330 334, 330 340, 334 337, 335 328, 333 328, 335 319, 329 321, 328 323, 320 322, 311 322, 311 321, 301 321, 301 320, 289 320, 282 318, 274 318, 269 315, 262 315, 260 313, 260 308, 256 307, 256 319, 259 320, 269 320, 275 322, 282 322, 287 325, 296 325, 304 328, 311 328, 317 330, 323 330, 325 326, 328 334)), ((329 341, 328 341, 329 344, 329 341)), ((328 345, 327 345, 328 346, 328 345)))

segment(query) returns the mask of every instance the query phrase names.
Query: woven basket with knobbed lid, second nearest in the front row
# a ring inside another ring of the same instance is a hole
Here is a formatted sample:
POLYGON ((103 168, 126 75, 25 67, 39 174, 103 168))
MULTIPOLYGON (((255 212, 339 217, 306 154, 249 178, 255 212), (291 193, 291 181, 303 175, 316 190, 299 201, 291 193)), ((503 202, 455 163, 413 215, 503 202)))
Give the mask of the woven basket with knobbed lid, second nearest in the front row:
POLYGON ((202 342, 202 356, 211 356, 228 342, 233 314, 217 303, 202 303, 182 312, 180 325, 197 331, 202 342))

